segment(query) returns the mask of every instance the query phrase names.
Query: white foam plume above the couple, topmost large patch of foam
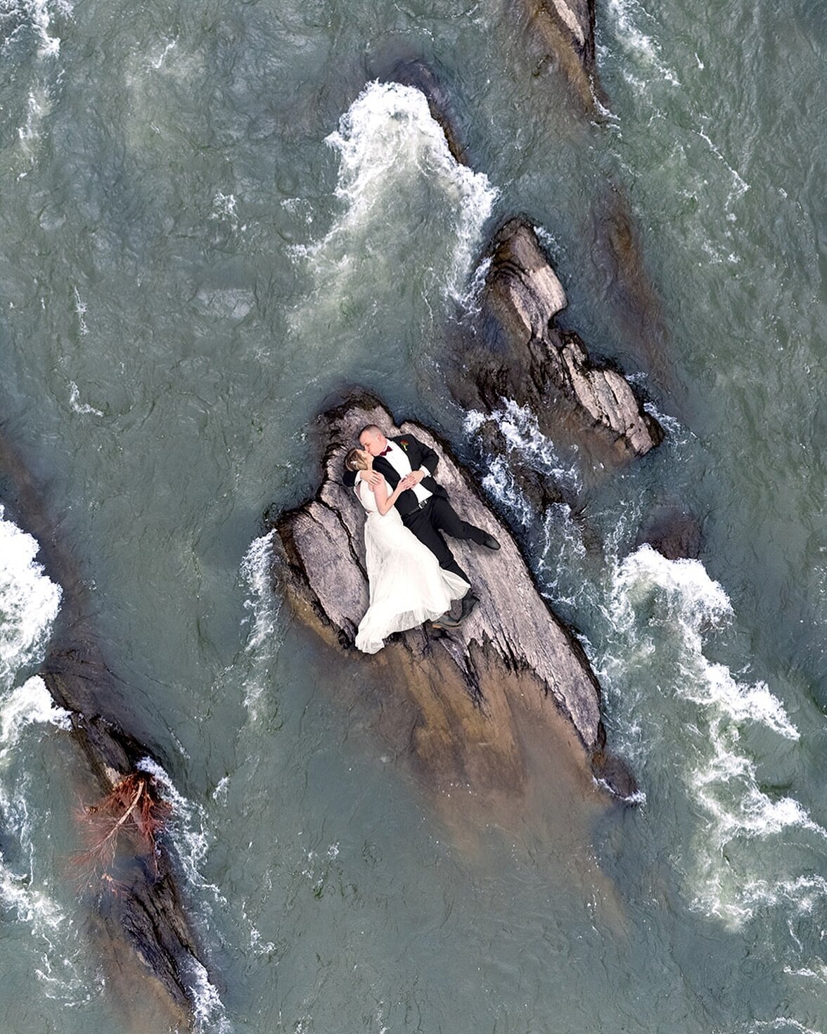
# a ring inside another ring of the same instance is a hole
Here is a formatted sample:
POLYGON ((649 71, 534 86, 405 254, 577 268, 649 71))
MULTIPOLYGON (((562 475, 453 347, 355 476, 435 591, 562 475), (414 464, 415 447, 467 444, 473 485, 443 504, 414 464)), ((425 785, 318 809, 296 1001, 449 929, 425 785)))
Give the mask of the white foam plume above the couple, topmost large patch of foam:
POLYGON ((293 249, 316 282, 294 327, 307 331, 312 311, 326 305, 340 321, 343 300, 369 307, 377 284, 409 279, 415 270, 461 304, 496 190, 485 174, 454 159, 425 95, 399 83, 369 83, 326 142, 339 157, 341 208, 323 239, 293 249))

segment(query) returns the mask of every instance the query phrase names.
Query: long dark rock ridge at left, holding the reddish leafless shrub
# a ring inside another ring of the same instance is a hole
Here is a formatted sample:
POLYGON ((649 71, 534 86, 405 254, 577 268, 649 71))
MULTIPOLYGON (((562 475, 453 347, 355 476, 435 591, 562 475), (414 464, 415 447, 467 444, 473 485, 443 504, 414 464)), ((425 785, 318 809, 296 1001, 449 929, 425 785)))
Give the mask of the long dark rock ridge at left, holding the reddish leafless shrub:
MULTIPOLYGON (((69 712, 74 739, 105 796, 147 759, 150 764, 157 760, 122 727, 128 687, 106 667, 71 554, 48 519, 25 466, 2 438, 0 491, 9 516, 38 541, 38 560, 63 589, 40 675, 55 703, 69 712)), ((114 977, 110 982, 124 993, 119 1004, 147 1014, 151 1000, 152 1014, 171 1029, 191 1024, 195 995, 207 974, 178 889, 177 868, 162 837, 153 857, 141 850, 122 851, 115 892, 102 890, 101 884, 93 923, 114 977)))

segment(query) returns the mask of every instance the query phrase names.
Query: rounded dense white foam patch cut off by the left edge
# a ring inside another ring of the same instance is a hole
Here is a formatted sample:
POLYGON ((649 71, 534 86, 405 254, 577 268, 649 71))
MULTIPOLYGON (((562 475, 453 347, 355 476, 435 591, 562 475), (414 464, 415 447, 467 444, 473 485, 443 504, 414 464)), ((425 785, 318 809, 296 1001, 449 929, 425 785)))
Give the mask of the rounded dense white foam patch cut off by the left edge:
POLYGON ((3 515, 0 506, 0 688, 40 659, 61 598, 35 560, 38 544, 3 515))

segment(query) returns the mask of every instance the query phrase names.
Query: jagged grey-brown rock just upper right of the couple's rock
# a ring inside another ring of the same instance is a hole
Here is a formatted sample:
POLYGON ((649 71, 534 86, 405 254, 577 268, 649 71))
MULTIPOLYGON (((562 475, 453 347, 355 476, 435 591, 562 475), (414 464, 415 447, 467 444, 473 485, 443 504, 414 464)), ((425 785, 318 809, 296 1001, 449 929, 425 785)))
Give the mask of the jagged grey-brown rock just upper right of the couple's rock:
POLYGON ((509 220, 489 257, 484 330, 463 348, 453 385, 459 400, 491 413, 512 399, 530 408, 552 437, 582 438, 591 428, 596 434, 589 437, 599 452, 603 443, 605 458, 643 456, 658 445, 663 428, 625 377, 593 362, 576 333, 555 325, 565 292, 533 230, 522 219, 509 220))

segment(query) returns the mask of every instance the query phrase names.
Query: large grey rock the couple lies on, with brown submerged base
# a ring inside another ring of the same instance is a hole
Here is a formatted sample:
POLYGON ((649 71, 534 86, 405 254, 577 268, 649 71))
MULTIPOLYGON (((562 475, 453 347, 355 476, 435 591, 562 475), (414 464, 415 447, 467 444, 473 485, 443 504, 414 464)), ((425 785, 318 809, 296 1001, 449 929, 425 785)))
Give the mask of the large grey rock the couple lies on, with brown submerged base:
POLYGON ((318 432, 327 446, 321 485, 315 498, 274 521, 275 580, 331 647, 359 657, 366 680, 381 670, 382 721, 397 727, 420 770, 438 789, 462 785, 474 793, 519 793, 525 720, 535 731, 542 728, 548 750, 564 750, 581 770, 593 770, 620 795, 631 794, 631 776, 606 755, 600 686, 580 643, 549 609, 509 530, 445 443, 418 424, 394 428, 388 410, 366 395, 324 414, 318 432), (456 511, 501 543, 497 552, 451 543, 481 598, 462 626, 438 638, 424 629, 403 633, 374 658, 354 647, 368 605, 364 514, 341 483, 344 454, 368 423, 412 434, 435 449, 437 480, 456 511))

